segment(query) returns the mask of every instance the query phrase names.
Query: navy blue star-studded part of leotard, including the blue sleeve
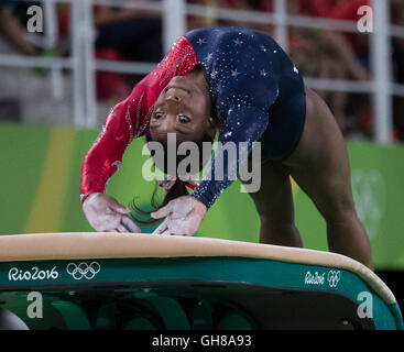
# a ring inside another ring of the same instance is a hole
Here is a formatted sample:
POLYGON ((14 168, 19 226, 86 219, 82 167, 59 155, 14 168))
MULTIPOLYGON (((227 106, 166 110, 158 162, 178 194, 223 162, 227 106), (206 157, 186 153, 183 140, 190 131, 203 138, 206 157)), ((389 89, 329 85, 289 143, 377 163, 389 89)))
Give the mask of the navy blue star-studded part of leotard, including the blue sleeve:
MULTIPOLYGON (((267 34, 239 28, 198 29, 185 34, 209 86, 214 112, 223 122, 218 141, 261 142, 263 160, 282 161, 296 147, 304 127, 303 79, 288 56, 267 34)), ((233 182, 228 177, 247 157, 223 160, 223 178, 204 176, 193 196, 209 208, 233 182)), ((216 155, 215 154, 215 155, 216 155)), ((247 154, 247 155, 248 155, 247 154)), ((232 174, 233 175, 233 174, 232 174)))

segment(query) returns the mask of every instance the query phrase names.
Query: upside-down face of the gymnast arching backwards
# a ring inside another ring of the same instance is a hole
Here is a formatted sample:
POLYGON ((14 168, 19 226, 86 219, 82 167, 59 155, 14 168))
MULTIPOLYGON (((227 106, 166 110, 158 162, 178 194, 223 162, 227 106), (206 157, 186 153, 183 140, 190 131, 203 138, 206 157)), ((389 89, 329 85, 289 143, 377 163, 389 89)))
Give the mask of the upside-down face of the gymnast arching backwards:
POLYGON ((210 117, 210 97, 200 70, 174 77, 156 100, 150 120, 153 141, 164 141, 176 133, 178 142, 215 138, 216 124, 210 117))

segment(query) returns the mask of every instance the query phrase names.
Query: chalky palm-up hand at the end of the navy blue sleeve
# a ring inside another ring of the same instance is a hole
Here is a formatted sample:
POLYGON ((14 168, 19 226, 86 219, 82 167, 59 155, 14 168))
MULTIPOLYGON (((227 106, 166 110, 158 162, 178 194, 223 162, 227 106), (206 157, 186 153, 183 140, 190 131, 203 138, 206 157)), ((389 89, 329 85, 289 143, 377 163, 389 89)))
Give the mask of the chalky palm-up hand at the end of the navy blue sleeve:
POLYGON ((192 196, 173 199, 165 207, 151 213, 154 219, 166 217, 153 233, 193 235, 203 222, 206 211, 206 206, 192 196))

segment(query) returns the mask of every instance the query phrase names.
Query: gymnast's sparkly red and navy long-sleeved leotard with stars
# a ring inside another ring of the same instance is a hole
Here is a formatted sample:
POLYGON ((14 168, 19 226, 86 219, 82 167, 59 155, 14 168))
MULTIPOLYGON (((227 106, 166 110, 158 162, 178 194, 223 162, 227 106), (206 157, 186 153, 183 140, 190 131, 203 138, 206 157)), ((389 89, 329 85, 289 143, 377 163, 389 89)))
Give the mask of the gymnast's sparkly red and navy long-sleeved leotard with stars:
MULTIPOLYGON (((262 143, 264 160, 282 161, 296 147, 304 127, 306 100, 297 68, 267 34, 239 28, 198 29, 186 33, 157 67, 140 81, 130 97, 113 107, 81 168, 81 201, 105 191, 133 138, 143 135, 153 105, 175 76, 203 68, 214 112, 222 121, 218 141, 262 143)), ((216 154, 215 154, 216 155, 216 154)), ((215 179, 214 156, 209 178, 204 177, 193 196, 211 207, 232 183, 231 169, 245 162, 226 158, 223 177, 215 179)))

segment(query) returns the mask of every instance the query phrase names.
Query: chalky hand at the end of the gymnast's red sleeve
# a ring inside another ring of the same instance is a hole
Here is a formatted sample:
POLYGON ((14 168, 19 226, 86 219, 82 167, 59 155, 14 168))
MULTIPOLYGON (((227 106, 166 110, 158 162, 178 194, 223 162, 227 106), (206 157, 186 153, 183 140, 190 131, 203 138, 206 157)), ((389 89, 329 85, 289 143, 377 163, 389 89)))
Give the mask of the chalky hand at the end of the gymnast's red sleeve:
POLYGON ((84 213, 96 231, 135 232, 137 224, 127 216, 131 208, 121 206, 117 199, 101 193, 94 193, 83 204, 84 213))

